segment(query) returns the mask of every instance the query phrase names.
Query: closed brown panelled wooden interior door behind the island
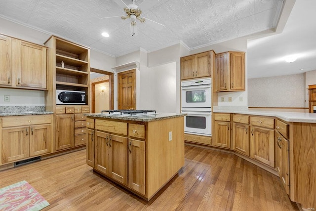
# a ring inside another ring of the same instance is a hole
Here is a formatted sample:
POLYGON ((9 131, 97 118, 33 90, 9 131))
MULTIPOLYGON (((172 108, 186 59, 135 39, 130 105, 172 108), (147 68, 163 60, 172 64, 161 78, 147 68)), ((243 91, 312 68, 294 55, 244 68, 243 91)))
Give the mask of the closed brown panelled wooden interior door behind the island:
POLYGON ((118 109, 136 109, 136 69, 118 73, 118 109))

